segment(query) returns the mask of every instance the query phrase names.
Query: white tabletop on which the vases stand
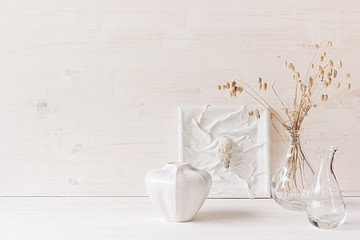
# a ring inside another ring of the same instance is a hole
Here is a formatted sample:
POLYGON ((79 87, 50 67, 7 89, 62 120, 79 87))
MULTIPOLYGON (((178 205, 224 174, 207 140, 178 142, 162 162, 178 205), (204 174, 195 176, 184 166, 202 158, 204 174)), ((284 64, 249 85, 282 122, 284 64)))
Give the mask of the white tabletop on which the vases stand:
POLYGON ((272 199, 208 199, 191 222, 166 222, 147 197, 2 197, 0 239, 360 239, 360 198, 319 230, 272 199))

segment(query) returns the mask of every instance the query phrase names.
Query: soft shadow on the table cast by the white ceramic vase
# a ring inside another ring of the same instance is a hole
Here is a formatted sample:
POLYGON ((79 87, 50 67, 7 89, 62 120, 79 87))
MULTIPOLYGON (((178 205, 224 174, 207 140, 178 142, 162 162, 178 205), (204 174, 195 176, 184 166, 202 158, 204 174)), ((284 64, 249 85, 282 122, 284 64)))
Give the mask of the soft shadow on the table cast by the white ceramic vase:
POLYGON ((249 219, 255 217, 254 212, 236 211, 236 210, 216 210, 199 212, 192 220, 193 222, 221 222, 229 220, 249 219))

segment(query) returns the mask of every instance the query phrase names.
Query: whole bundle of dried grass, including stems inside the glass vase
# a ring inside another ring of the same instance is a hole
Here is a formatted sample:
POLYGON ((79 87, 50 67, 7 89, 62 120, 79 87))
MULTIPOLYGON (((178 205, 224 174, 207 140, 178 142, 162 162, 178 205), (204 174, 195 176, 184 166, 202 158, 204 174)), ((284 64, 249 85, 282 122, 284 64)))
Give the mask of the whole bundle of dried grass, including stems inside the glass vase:
MULTIPOLYGON (((291 99, 291 104, 286 105, 280 98, 274 87, 275 82, 271 85, 271 89, 281 105, 282 114, 280 114, 281 112, 277 112, 262 96, 261 91, 268 90, 268 83, 261 77, 259 77, 257 81, 257 90, 242 80, 232 81, 231 83, 226 82, 218 86, 219 90, 228 90, 231 97, 236 97, 243 92, 250 95, 270 112, 272 124, 280 136, 282 136, 282 134, 280 134, 276 128, 274 120, 278 121, 284 130, 289 133, 292 139, 292 154, 288 157, 286 163, 287 169, 290 169, 290 171, 287 172, 287 178, 290 179, 286 185, 288 191, 296 189, 301 193, 300 186, 304 188, 305 185, 304 164, 309 165, 309 163, 301 150, 300 140, 298 139, 298 131, 301 129, 305 117, 312 108, 317 107, 318 104, 316 101, 318 97, 320 97, 320 100, 323 102, 328 101, 328 90, 332 85, 335 85, 335 90, 341 89, 341 87, 345 88, 346 91, 350 91, 351 89, 351 84, 348 82, 350 73, 345 74, 343 77, 341 77, 340 74, 343 68, 342 61, 338 60, 337 65, 335 65, 334 62, 336 61, 330 59, 327 52, 323 51, 332 45, 331 41, 314 44, 315 53, 304 75, 297 71, 292 59, 285 58, 286 60, 283 62, 283 65, 288 69, 291 79, 295 82, 294 98, 291 99), (345 81, 346 83, 344 84, 345 81), (298 175, 301 175, 300 179, 302 184, 297 183, 298 175)), ((279 58, 283 59, 284 57, 279 56, 279 58)), ((248 115, 252 117, 254 116, 254 112, 249 112, 248 115)), ((255 115, 257 118, 260 118, 256 112, 255 115)))

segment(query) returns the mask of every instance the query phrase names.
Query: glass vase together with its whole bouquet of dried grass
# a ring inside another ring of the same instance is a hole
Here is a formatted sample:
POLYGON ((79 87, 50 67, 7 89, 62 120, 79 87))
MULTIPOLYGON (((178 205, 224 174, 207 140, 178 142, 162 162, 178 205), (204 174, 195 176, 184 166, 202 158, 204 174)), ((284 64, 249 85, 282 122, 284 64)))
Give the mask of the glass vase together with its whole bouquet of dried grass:
POLYGON ((268 82, 261 77, 258 78, 258 87, 252 87, 242 80, 234 80, 218 86, 219 90, 228 90, 231 97, 242 93, 253 97, 270 112, 271 123, 276 132, 282 137, 281 131, 276 127, 280 126, 287 133, 285 156, 271 182, 274 200, 286 209, 306 209, 309 190, 315 175, 301 148, 301 129, 304 119, 311 109, 317 107, 319 99, 322 102, 328 101, 331 90, 350 91, 351 88, 350 73, 340 74, 343 68, 342 61, 338 60, 335 64, 334 60, 327 55, 326 48, 331 46, 331 41, 314 44, 315 53, 304 75, 296 70, 292 59, 278 57, 283 59, 284 67, 294 81, 295 91, 292 99, 283 101, 273 82, 271 90, 280 104, 277 110, 262 96, 262 91, 267 91, 269 87, 268 82))

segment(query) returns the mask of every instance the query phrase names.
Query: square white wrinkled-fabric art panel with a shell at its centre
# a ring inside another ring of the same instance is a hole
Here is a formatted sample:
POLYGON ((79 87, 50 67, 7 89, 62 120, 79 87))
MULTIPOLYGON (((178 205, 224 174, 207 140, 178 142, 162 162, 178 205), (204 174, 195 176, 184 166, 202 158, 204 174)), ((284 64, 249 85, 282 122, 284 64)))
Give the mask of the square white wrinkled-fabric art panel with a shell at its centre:
POLYGON ((270 197, 266 109, 206 105, 178 112, 179 161, 210 173, 210 198, 270 197))

